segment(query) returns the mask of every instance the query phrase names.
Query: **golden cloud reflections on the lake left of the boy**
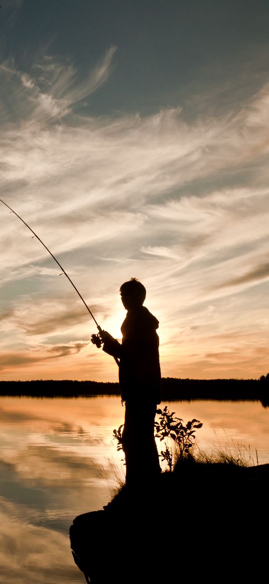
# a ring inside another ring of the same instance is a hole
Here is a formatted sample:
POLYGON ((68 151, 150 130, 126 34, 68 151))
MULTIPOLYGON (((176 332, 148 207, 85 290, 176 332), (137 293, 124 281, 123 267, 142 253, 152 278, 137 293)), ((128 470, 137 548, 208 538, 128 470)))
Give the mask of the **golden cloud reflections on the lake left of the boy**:
MULTIPOLYGON (((102 509, 116 454, 102 399, 1 398, 1 574, 6 584, 81 582, 69 550, 76 515, 102 509)), ((122 416, 118 398, 111 410, 122 416)), ((117 419, 117 416, 116 416, 117 419)), ((116 454, 117 458, 117 454, 116 454)))

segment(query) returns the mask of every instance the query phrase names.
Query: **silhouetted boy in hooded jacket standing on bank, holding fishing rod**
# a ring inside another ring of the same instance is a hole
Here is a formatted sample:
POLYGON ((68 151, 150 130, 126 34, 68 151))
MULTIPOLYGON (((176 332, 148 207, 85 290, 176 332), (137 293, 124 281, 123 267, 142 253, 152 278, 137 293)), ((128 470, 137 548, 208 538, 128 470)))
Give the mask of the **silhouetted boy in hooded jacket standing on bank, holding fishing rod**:
POLYGON ((135 278, 120 288, 127 316, 120 344, 107 332, 100 336, 103 350, 120 359, 121 398, 125 401, 123 450, 126 484, 154 479, 160 473, 154 438, 156 405, 160 403, 159 321, 143 306, 146 289, 135 278))

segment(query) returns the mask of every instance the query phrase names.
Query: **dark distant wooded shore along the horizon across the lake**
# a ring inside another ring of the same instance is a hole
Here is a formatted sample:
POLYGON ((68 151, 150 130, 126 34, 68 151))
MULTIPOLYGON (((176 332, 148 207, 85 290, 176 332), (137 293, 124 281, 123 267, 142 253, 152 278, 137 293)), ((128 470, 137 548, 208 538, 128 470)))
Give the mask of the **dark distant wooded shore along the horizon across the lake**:
MULTIPOLYGON (((33 397, 79 397, 120 395, 118 383, 73 380, 0 381, 0 395, 33 397)), ((256 379, 162 379, 162 399, 218 399, 260 401, 269 406, 269 383, 256 379)))

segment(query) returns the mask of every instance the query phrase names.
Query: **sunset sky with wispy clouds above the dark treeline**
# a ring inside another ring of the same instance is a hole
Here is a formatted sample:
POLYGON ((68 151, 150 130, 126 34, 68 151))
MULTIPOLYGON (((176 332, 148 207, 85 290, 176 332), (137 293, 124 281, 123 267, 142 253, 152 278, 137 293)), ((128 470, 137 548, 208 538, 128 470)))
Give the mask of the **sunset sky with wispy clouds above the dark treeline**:
MULTIPOLYGON (((269 5, 2 0, 1 199, 120 339, 137 277, 163 377, 269 370, 269 5)), ((74 288, 0 203, 0 380, 116 381, 74 288)))

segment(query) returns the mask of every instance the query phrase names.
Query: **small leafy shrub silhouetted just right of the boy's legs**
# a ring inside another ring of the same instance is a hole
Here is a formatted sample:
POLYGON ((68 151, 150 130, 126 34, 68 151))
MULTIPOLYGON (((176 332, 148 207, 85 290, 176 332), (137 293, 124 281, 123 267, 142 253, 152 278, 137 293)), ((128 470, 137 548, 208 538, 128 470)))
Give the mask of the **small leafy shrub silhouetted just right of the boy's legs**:
MULTIPOLYGON (((183 425, 182 418, 174 417, 174 413, 169 412, 167 405, 165 408, 158 409, 157 413, 160 415, 159 422, 155 422, 156 438, 165 440, 165 438, 170 438, 173 440, 178 458, 183 458, 187 456, 190 449, 194 445, 195 440, 195 430, 202 427, 200 420, 190 420, 187 422, 186 426, 183 425)), ((166 450, 161 452, 163 456, 162 460, 166 460, 169 466, 169 470, 172 470, 173 452, 165 442, 166 450)))

